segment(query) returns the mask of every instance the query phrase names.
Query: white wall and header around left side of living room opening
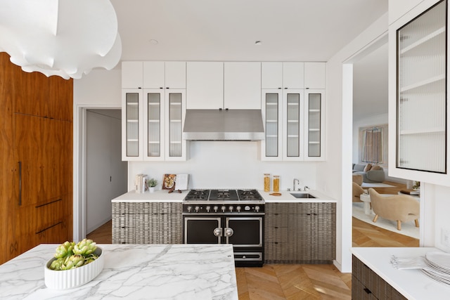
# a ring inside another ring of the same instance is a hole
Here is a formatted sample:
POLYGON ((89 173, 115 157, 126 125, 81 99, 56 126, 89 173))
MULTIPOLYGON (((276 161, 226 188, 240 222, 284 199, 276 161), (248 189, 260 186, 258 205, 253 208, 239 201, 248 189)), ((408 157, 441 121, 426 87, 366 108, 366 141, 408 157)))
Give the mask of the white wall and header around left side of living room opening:
POLYGON ((335 264, 344 273, 352 270, 352 66, 343 65, 368 45, 383 39, 387 14, 335 54, 327 63, 326 157, 317 167, 317 186, 338 200, 335 264), (345 73, 346 77, 343 76, 345 73), (350 78, 349 78, 350 77, 350 78))

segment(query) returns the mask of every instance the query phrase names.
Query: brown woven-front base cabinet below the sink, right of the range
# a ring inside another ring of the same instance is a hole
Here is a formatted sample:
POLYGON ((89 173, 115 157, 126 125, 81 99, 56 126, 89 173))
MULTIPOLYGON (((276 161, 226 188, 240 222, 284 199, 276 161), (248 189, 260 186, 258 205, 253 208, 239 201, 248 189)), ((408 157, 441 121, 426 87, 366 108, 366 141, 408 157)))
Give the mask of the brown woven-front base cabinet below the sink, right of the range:
POLYGON ((336 204, 266 203, 266 263, 332 263, 336 204))

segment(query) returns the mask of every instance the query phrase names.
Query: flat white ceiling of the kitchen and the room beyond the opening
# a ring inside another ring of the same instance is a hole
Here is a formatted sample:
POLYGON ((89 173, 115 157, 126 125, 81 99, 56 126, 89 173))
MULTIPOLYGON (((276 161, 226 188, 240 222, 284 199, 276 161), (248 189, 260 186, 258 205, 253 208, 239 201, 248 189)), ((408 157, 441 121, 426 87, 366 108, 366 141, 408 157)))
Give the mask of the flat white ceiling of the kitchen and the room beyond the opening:
MULTIPOLYGON (((387 12, 387 0, 111 2, 122 60, 328 61, 387 12)), ((377 101, 387 112, 385 54, 354 65, 354 119, 383 113, 377 101)))

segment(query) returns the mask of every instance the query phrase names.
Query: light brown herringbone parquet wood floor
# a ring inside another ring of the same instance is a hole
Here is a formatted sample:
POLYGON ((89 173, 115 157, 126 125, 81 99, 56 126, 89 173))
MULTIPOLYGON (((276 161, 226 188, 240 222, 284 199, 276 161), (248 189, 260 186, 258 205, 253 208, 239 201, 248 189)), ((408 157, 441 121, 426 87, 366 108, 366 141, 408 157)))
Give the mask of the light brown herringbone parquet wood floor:
MULTIPOLYGON (((390 183, 396 185, 396 183, 390 183)), ((396 188, 376 188, 396 194, 396 188)), ((353 247, 418 247, 419 241, 352 218, 353 247)), ((99 244, 110 244, 111 221, 87 235, 99 244)), ((236 268, 240 300, 352 299, 352 274, 333 265, 268 264, 262 268, 236 268)))

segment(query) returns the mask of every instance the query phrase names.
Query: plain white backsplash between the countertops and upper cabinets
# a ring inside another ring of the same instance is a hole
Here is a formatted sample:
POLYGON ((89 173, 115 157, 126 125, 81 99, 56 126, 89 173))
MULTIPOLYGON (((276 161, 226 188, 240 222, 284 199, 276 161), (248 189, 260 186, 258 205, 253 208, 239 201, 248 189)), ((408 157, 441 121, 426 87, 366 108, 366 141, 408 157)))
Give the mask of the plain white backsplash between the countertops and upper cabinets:
POLYGON ((191 141, 186 162, 129 162, 129 190, 134 175, 148 174, 158 179, 163 174, 191 174, 189 188, 263 188, 264 173, 280 175, 281 190, 300 186, 314 189, 316 164, 320 162, 262 162, 256 141, 191 141))

